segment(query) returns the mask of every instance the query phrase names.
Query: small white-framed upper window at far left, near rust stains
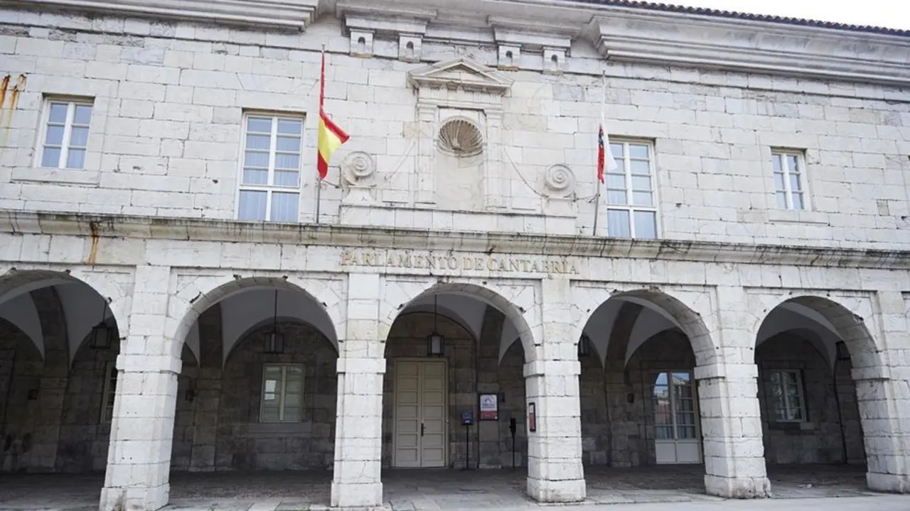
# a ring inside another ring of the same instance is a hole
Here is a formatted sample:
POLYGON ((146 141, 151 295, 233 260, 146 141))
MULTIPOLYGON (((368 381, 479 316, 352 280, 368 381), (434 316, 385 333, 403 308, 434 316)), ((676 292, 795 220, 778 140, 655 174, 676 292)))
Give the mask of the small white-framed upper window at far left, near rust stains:
POLYGON ((86 167, 91 99, 45 100, 41 136, 35 151, 36 166, 82 169, 86 167))

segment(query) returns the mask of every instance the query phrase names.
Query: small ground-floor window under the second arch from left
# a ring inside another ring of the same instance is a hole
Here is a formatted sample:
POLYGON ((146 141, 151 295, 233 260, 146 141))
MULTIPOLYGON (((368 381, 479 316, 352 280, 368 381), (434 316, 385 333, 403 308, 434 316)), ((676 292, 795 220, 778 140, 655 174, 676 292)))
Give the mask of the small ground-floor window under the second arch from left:
POLYGON ((262 366, 259 422, 300 422, 303 407, 303 366, 262 366))

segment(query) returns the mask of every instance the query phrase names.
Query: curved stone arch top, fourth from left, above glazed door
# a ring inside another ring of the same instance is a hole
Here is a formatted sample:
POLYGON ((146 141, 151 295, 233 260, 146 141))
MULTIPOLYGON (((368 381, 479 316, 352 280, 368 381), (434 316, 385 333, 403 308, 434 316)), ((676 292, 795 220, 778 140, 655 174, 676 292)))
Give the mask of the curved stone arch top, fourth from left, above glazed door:
MULTIPOLYGON (((628 361, 634 354, 635 348, 644 341, 671 328, 679 328, 689 338, 697 366, 710 366, 717 362, 718 352, 711 336, 713 329, 710 320, 713 317, 713 300, 705 291, 681 291, 674 289, 642 288, 640 286, 626 286, 612 290, 579 286, 573 289, 575 296, 572 308, 572 339, 577 343, 584 333, 585 326, 591 321, 595 312, 609 300, 621 300, 642 306, 643 311, 648 311, 665 325, 645 325, 638 329, 638 340, 630 340, 629 351, 625 359, 628 361), (582 310, 582 306, 591 306, 582 310), (702 314, 703 311, 706 314, 702 314), (656 330, 655 330, 656 329, 656 330), (633 346, 633 342, 634 345, 633 346)), ((641 318, 640 318, 641 319, 641 318)), ((638 325, 636 325, 638 326, 638 325)), ((634 330, 634 327, 633 327, 634 330)), ((609 349, 609 346, 604 346, 609 349)), ((601 348, 603 349, 603 348, 601 348)), ((604 353, 606 352, 604 349, 604 353)))

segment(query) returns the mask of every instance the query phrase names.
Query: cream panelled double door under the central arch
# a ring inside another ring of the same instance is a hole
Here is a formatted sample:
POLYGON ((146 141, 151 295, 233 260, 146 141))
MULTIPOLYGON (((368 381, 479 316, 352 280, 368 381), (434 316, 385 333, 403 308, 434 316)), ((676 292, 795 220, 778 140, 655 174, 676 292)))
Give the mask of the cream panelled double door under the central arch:
POLYGON ((395 466, 446 466, 446 362, 395 363, 395 466))

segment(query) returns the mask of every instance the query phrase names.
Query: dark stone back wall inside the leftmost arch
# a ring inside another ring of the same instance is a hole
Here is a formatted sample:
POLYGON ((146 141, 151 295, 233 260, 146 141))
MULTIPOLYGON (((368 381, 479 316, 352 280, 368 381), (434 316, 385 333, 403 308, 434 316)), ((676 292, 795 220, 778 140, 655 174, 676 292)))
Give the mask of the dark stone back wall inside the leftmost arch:
MULTIPOLYGON (((44 334, 35 343, 0 319, 0 472, 103 471, 110 423, 101 416, 106 367, 119 344, 68 353, 66 318, 53 287, 31 293, 44 334)), ((114 336, 119 338, 116 324, 114 336)))

